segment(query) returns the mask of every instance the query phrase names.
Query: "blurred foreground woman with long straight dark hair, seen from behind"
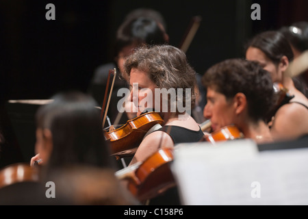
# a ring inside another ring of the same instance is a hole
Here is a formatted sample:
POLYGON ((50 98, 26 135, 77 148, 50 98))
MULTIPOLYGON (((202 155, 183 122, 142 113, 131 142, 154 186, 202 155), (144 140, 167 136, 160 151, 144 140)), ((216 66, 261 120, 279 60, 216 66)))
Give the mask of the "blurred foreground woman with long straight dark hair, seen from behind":
POLYGON ((114 176, 94 99, 82 92, 52 99, 36 113, 38 154, 31 164, 42 159, 42 181, 55 182, 56 191, 73 205, 138 204, 114 176))

